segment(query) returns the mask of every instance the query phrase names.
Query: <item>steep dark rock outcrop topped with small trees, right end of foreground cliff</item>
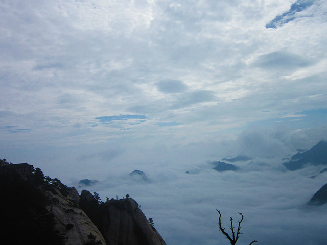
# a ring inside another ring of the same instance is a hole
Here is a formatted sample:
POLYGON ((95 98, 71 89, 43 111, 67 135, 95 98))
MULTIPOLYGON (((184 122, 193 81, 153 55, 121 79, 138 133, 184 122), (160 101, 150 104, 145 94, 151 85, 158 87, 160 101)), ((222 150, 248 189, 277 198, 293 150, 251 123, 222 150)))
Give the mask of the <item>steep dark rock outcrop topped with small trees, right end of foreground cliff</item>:
POLYGON ((131 198, 111 199, 105 203, 90 200, 82 191, 80 206, 99 228, 110 245, 165 245, 164 239, 150 226, 139 205, 131 198))

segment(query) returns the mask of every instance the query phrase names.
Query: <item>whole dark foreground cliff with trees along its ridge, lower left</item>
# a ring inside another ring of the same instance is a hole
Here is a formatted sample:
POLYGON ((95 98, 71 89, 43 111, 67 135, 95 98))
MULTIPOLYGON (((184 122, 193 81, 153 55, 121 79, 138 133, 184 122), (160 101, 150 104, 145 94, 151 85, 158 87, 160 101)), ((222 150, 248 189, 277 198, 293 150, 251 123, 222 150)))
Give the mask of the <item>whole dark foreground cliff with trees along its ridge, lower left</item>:
POLYGON ((99 202, 43 176, 0 173, 2 244, 165 245, 135 200, 99 202))

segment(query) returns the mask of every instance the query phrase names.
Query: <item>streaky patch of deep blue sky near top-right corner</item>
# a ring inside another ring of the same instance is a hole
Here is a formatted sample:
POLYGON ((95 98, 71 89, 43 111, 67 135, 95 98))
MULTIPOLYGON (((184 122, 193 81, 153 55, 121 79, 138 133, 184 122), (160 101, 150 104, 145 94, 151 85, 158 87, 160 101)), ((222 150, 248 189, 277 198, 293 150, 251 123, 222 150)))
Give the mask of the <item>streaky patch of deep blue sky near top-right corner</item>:
POLYGON ((271 20, 268 24, 266 24, 266 28, 278 28, 283 26, 284 24, 294 20, 295 14, 297 12, 301 12, 311 5, 314 4, 314 0, 297 0, 294 4, 291 5, 291 8, 289 11, 277 15, 273 20, 271 20))

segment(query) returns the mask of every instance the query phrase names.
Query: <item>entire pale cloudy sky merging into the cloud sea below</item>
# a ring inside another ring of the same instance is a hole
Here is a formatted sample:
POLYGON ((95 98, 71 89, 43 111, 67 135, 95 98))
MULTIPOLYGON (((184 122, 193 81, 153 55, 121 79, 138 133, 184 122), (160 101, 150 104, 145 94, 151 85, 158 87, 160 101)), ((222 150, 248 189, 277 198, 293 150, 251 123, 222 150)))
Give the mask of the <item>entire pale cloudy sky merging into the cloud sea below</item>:
POLYGON ((325 207, 301 205, 326 178, 282 159, 327 140, 326 13, 324 0, 0 1, 0 158, 99 180, 102 199, 129 193, 167 244, 225 244, 216 209, 244 210, 240 245, 325 244, 325 207), (212 170, 237 155, 254 160, 212 170))

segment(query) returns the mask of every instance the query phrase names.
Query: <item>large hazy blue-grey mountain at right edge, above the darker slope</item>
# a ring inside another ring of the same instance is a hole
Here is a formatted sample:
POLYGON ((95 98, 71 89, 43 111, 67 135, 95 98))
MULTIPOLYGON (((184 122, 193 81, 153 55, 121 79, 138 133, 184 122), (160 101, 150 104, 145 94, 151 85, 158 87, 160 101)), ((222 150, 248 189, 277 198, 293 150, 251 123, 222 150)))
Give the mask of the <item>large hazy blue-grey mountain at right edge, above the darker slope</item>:
POLYGON ((290 161, 284 162, 283 165, 292 171, 306 165, 327 165, 327 141, 320 141, 309 151, 295 154, 290 161))

